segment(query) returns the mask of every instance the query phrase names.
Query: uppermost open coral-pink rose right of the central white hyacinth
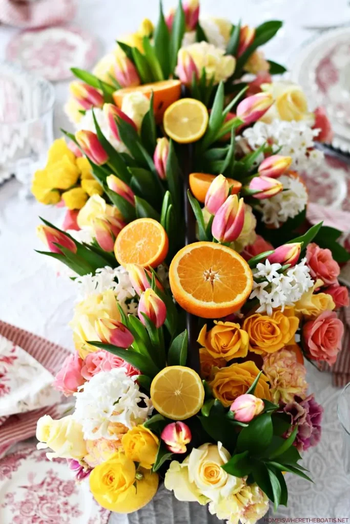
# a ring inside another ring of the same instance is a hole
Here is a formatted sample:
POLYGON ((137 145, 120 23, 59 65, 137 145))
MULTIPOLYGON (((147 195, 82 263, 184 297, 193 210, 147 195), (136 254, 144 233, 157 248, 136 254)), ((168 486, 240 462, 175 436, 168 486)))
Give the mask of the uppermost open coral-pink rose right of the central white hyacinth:
POLYGON ((311 243, 306 248, 306 265, 314 280, 321 278, 326 286, 337 283, 340 267, 333 259, 330 249, 323 249, 311 243))

